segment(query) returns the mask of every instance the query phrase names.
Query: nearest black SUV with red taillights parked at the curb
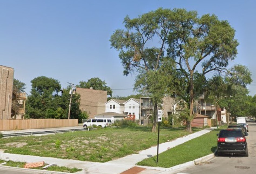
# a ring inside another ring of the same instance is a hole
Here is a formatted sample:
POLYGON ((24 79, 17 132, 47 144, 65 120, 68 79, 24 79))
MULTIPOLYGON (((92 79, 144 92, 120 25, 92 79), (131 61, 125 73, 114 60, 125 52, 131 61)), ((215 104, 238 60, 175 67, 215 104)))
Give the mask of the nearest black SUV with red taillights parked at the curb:
POLYGON ((217 136, 216 156, 228 153, 248 157, 247 141, 242 129, 222 129, 217 136))

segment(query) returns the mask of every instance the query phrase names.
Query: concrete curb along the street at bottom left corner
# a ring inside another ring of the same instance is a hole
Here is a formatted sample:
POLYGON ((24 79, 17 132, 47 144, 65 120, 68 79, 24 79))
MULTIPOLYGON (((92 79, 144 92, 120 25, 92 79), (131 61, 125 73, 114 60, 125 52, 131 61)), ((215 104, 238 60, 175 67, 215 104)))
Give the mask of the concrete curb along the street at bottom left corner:
POLYGON ((3 166, 0 165, 0 169, 10 169, 12 171, 23 171, 23 172, 37 172, 40 174, 74 174, 68 172, 56 172, 56 171, 47 171, 47 170, 39 170, 39 169, 27 169, 27 168, 20 168, 20 167, 11 167, 11 166, 3 166))

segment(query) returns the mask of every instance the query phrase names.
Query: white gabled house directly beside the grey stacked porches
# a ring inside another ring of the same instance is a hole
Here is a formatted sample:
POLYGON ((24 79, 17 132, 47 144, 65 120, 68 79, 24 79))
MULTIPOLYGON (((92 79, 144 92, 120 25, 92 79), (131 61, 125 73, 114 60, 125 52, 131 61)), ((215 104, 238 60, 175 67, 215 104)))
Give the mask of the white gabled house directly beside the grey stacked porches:
POLYGON ((124 102, 124 115, 135 115, 135 119, 140 119, 140 99, 130 98, 124 102))

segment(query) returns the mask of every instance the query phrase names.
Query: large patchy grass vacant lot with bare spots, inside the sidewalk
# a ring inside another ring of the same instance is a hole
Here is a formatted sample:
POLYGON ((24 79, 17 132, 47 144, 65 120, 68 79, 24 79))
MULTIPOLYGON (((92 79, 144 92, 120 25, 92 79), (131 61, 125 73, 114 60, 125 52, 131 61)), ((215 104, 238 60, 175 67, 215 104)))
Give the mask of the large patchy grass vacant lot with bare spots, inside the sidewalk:
MULTIPOLYGON (((193 129, 199 131, 201 129, 193 129)), ((184 128, 161 128, 160 143, 188 135, 184 128)), ((157 132, 151 127, 102 128, 45 136, 3 138, 5 153, 106 162, 157 145, 157 132)))

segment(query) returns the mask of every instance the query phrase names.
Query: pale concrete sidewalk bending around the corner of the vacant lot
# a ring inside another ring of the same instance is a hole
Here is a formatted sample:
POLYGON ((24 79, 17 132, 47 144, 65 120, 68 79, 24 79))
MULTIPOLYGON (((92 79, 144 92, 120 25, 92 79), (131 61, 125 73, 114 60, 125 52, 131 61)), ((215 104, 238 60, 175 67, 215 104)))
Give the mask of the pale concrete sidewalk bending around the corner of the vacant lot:
MULTIPOLYGON (((199 137, 205 133, 210 132, 214 128, 204 129, 202 131, 198 131, 192 133, 190 135, 177 138, 171 142, 166 142, 159 144, 159 153, 162 153, 168 148, 175 147, 179 144, 182 144, 188 140, 199 137)), ((3 153, 0 151, 0 159, 2 160, 12 160, 12 161, 21 161, 21 162, 36 162, 36 161, 44 161, 46 164, 56 164, 58 166, 66 166, 69 168, 81 168, 83 169, 80 172, 76 172, 77 174, 119 174, 122 173, 136 165, 137 162, 142 161, 145 158, 152 157, 157 154, 157 146, 151 147, 149 149, 140 151, 138 154, 127 155, 126 157, 119 158, 113 161, 99 163, 99 162, 87 162, 87 161, 78 161, 71 159, 58 159, 58 158, 49 158, 49 157, 37 157, 31 155, 19 155, 19 154, 9 154, 3 153)), ((143 168, 147 168, 142 166, 143 168)), ((148 173, 148 174, 156 174, 162 173, 164 170, 160 168, 150 167, 145 169, 138 174, 148 173)))

